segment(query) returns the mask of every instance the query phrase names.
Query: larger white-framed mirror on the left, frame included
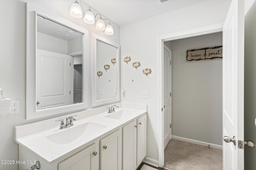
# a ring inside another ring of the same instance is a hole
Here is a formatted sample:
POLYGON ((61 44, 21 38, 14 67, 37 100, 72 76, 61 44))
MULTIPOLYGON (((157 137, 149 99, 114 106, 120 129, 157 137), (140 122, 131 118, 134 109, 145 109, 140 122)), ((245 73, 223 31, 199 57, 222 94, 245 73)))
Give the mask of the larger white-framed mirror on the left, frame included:
POLYGON ((88 31, 27 7, 26 119, 85 109, 88 31))

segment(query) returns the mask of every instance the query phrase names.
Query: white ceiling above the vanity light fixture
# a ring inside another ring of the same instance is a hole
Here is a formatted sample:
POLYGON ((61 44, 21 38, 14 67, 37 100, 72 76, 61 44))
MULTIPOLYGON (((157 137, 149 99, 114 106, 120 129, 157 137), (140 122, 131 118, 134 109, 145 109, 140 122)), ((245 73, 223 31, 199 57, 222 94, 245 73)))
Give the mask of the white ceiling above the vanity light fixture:
MULTIPOLYGON (((83 0, 92 8, 117 25, 144 20, 206 0, 169 0, 158 4, 158 0, 83 0)), ((87 9, 84 9, 87 10, 87 9)), ((92 10, 92 12, 94 12, 92 10)), ((94 14, 95 15, 95 14, 94 14)))

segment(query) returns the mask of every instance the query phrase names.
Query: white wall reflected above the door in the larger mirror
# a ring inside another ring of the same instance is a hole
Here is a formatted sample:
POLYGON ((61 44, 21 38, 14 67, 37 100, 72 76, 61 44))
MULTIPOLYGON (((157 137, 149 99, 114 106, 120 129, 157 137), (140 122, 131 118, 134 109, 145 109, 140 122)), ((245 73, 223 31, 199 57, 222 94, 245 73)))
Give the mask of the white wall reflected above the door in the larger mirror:
POLYGON ((40 32, 37 32, 36 38, 37 49, 68 54, 68 41, 40 32))

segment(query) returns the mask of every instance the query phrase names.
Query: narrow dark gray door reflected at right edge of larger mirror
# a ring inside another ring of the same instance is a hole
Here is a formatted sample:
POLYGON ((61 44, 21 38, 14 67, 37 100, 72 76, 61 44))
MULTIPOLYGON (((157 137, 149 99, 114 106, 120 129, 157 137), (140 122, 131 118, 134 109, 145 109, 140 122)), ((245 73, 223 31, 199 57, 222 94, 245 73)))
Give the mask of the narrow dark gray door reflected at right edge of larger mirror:
POLYGON ((74 65, 74 103, 82 103, 82 71, 82 64, 74 65))

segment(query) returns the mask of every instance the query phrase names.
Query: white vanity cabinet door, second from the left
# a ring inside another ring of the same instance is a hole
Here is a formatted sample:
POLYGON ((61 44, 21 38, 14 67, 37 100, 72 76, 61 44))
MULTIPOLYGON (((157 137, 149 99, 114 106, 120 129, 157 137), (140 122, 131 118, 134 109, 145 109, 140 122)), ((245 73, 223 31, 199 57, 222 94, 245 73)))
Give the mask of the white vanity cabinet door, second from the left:
POLYGON ((122 131, 100 140, 100 170, 122 170, 122 131))

